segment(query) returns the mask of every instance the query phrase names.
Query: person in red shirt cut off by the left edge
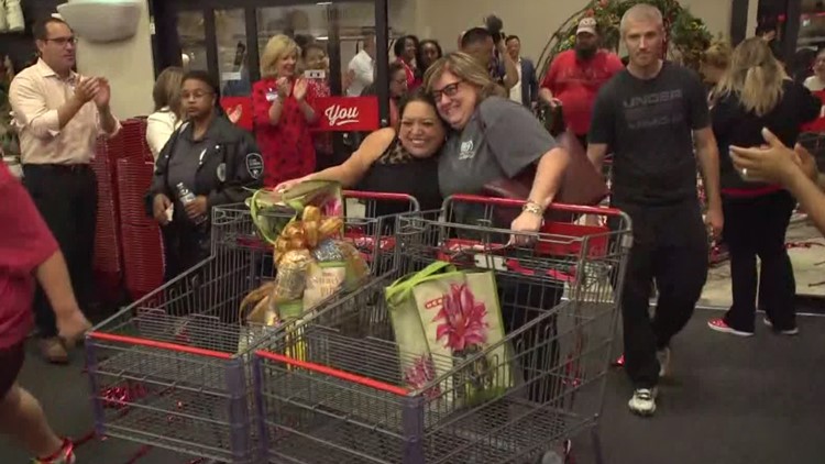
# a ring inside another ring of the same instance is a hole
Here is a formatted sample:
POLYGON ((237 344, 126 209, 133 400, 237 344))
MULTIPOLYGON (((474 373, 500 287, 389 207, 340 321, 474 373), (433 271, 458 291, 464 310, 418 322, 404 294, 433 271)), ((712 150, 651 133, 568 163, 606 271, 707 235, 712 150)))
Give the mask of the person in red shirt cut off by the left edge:
POLYGON ((72 464, 72 442, 48 427, 40 402, 16 384, 32 329, 35 279, 54 308, 59 336, 72 344, 89 322, 77 306, 66 262, 32 199, 0 163, 0 430, 40 456, 72 464))

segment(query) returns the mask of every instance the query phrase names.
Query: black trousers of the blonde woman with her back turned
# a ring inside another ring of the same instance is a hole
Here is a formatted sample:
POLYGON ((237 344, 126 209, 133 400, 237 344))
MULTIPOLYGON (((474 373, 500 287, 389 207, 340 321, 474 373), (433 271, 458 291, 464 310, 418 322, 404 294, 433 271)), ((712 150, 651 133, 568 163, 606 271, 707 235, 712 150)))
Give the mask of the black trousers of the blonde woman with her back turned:
POLYGON ((757 198, 725 197, 725 243, 730 253, 734 303, 725 323, 744 332, 754 331, 757 299, 756 257, 759 275, 759 306, 778 330, 796 327, 796 281, 785 250, 785 232, 796 202, 787 191, 757 198))

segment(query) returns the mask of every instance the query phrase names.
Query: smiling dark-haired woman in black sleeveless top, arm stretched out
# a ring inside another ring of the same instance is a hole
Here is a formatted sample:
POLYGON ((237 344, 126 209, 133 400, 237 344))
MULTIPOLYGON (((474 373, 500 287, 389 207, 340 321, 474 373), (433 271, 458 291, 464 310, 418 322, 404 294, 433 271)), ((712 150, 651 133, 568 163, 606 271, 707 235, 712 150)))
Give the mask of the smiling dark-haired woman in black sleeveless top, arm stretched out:
MULTIPOLYGON (((399 114, 397 132, 393 128, 380 129, 364 139, 343 164, 288 180, 276 190, 304 180, 336 180, 344 188, 410 195, 425 211, 440 208, 435 155, 444 143, 446 129, 436 112, 436 104, 425 92, 415 92, 402 102, 399 114)), ((374 216, 406 210, 407 205, 381 202, 374 216)))

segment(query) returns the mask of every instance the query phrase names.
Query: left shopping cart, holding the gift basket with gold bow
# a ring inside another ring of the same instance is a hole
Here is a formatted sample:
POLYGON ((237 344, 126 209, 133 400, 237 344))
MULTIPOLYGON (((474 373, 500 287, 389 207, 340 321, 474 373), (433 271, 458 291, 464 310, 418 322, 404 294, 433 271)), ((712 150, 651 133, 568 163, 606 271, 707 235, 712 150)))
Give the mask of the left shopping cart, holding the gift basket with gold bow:
MULTIPOLYGON (((381 202, 415 211, 417 201, 409 196, 369 192, 345 192, 344 197, 364 203, 361 214, 345 218, 345 237, 374 269, 394 266, 395 247, 382 231, 395 218, 369 213, 381 202)), ((263 332, 258 333, 263 339, 290 325, 242 327, 239 307, 251 290, 272 278, 272 247, 258 239, 249 209, 243 205, 216 208, 209 258, 87 335, 98 435, 220 462, 256 462, 249 372, 254 344, 240 342, 250 330, 263 332)), ((332 295, 307 311, 322 312, 343 296, 332 295)))

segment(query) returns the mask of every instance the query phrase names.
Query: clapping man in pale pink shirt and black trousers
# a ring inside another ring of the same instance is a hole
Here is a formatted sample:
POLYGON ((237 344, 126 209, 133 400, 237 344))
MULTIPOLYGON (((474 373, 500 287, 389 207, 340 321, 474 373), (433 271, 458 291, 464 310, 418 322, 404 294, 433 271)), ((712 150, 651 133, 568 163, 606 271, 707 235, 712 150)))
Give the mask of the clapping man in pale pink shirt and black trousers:
MULTIPOLYGON (((112 136, 111 89, 105 78, 73 70, 77 37, 63 20, 48 18, 32 27, 40 59, 12 80, 9 103, 20 134, 23 185, 57 240, 80 306, 95 299, 92 256, 97 224, 97 178, 89 163, 99 135, 112 136)), ((53 308, 43 291, 34 299, 43 356, 68 363, 57 336, 53 308)))

